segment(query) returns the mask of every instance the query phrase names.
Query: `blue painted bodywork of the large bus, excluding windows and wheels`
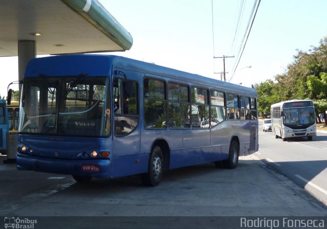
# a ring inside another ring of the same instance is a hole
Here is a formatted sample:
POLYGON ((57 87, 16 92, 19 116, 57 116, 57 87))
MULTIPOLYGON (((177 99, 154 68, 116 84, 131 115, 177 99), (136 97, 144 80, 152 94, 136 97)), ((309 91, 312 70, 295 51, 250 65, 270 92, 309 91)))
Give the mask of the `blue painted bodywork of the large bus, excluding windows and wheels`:
MULTIPOLYGON (((118 56, 105 55, 64 55, 37 58, 30 61, 25 71, 25 78, 65 77, 85 74, 86 77, 107 76, 112 78, 115 71, 127 72, 127 79, 137 81, 139 85, 139 117, 137 128, 127 136, 108 138, 61 137, 40 135, 19 135, 20 144, 34 147, 32 154, 18 154, 18 169, 36 170, 95 177, 118 177, 145 173, 149 167, 149 157, 153 143, 157 139, 169 144, 170 167, 197 165, 228 159, 230 140, 237 136, 240 141, 240 156, 249 154, 250 129, 254 126, 258 136, 258 120, 224 120, 211 129, 205 130, 146 130, 143 123, 144 89, 143 78, 153 77, 165 82, 174 81, 181 84, 188 82, 191 86, 215 88, 223 92, 240 93, 256 97, 253 88, 246 88, 227 82, 201 77, 155 64, 136 61, 118 56), (53 137, 54 140, 50 140, 53 137), (56 138, 59 138, 58 141, 56 138), (60 140, 64 138, 64 140, 60 140), (83 152, 109 150, 109 160, 81 158, 83 152), (245 150, 246 149, 246 150, 245 150), (58 152, 60 157, 55 155, 58 152), (62 152, 61 152, 62 151, 62 152), (83 164, 97 164, 100 171, 82 171, 83 164)), ((112 85, 111 85, 112 87, 112 85)), ((113 93, 111 92, 111 95, 113 93)), ((252 152, 258 150, 258 139, 252 152)))

